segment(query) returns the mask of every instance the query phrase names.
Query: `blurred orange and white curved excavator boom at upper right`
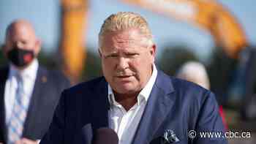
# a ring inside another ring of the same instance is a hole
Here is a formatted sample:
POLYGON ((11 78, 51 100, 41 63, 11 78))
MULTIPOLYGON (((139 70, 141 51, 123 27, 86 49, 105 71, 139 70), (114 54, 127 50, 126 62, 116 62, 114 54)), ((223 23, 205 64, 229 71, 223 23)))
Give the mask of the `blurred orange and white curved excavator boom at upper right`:
POLYGON ((247 46, 246 36, 236 18, 214 0, 122 0, 146 10, 186 20, 206 29, 214 37, 216 45, 224 48, 228 56, 236 58, 247 46))

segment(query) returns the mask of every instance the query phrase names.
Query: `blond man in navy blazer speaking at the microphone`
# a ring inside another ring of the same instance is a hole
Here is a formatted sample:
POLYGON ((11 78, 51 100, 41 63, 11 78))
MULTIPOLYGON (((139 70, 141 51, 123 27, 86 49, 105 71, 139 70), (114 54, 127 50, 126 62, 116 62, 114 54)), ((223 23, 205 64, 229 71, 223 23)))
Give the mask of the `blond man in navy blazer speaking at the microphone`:
POLYGON ((189 134, 224 132, 216 99, 157 69, 156 48, 143 17, 110 15, 99 32, 104 76, 63 91, 41 143, 90 144, 102 127, 113 129, 119 144, 227 143, 189 134))

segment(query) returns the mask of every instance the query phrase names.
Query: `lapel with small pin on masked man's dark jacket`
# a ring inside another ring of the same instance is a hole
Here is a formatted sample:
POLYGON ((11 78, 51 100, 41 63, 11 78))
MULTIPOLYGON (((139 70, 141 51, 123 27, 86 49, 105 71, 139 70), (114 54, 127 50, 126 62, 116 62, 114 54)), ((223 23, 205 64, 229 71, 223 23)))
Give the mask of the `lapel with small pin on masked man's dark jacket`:
POLYGON ((47 81, 47 72, 42 67, 39 67, 37 70, 37 77, 34 82, 34 90, 31 96, 31 101, 29 104, 29 110, 27 113, 26 121, 23 128, 23 136, 30 135, 29 132, 33 132, 34 130, 34 117, 37 116, 37 108, 39 106, 40 101, 40 92, 44 91, 45 83, 47 81))

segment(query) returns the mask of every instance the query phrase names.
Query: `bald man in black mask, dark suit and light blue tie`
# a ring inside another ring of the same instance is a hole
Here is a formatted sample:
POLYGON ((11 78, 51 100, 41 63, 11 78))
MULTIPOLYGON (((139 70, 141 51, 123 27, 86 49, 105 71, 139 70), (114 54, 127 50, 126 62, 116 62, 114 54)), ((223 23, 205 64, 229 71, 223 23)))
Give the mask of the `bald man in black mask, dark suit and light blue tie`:
POLYGON ((37 143, 48 129, 59 96, 69 81, 61 72, 39 66, 41 42, 26 20, 7 27, 0 69, 0 143, 37 143))

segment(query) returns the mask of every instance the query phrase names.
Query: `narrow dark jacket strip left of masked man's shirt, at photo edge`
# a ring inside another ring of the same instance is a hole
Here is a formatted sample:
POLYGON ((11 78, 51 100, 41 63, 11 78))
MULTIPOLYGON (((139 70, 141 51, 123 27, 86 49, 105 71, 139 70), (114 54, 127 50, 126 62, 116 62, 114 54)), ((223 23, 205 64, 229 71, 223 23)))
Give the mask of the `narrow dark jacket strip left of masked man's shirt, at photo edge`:
POLYGON ((5 105, 4 105, 4 88, 7 81, 9 68, 4 67, 1 69, 0 75, 0 142, 1 140, 7 140, 7 127, 5 125, 5 105))

